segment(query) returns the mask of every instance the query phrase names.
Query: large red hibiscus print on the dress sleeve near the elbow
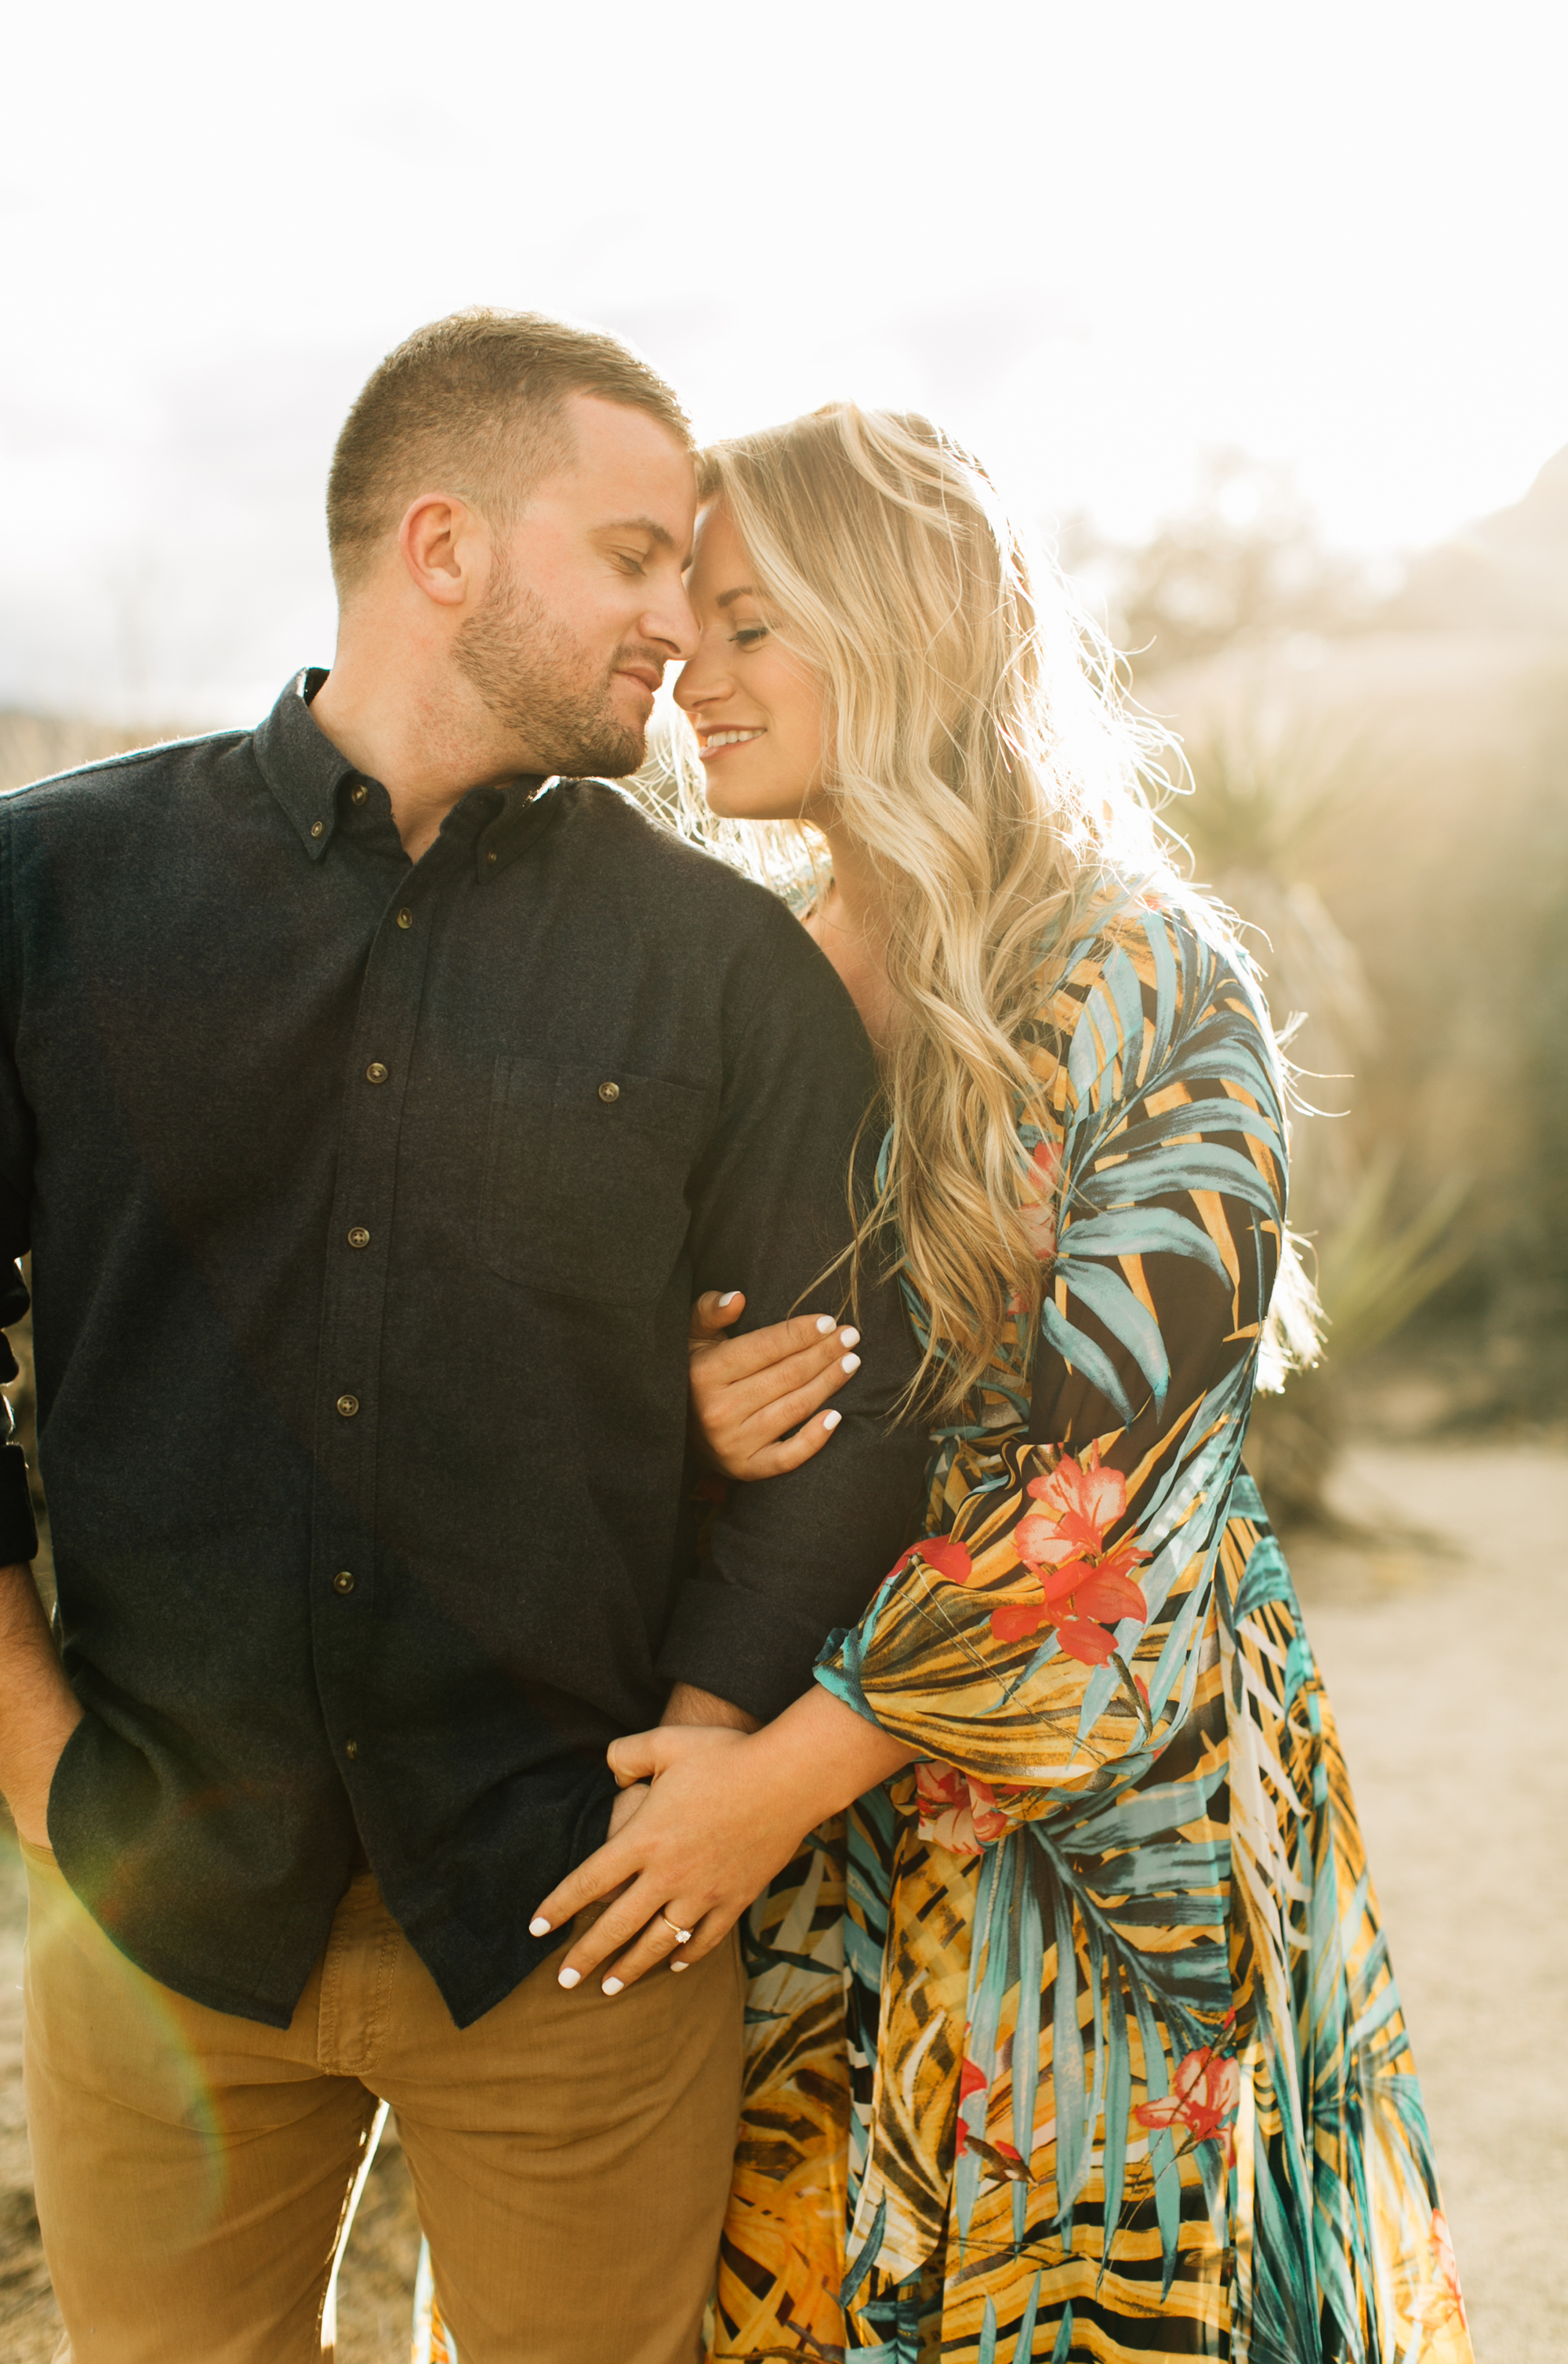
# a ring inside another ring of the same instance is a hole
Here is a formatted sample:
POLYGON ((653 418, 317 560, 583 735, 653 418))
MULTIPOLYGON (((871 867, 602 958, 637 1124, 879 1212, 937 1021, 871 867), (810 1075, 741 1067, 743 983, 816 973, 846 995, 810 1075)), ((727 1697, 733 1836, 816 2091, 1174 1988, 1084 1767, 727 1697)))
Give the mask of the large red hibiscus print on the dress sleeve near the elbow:
POLYGON ((1019 1641, 1055 1626, 1062 1648, 1086 1667, 1104 1667, 1116 1650, 1107 1626, 1123 1617, 1147 1617, 1149 1603, 1130 1570, 1149 1558, 1138 1537, 1104 1548, 1104 1530, 1126 1515, 1128 1482, 1121 1470, 1100 1468, 1100 1444, 1088 1461, 1062 1461, 1048 1478, 1031 1478, 1029 1494, 1041 1504, 1026 1511, 1012 1530, 1012 1548, 1041 1582, 1041 1600, 1007 1600, 991 1612, 998 1641, 1019 1641))

